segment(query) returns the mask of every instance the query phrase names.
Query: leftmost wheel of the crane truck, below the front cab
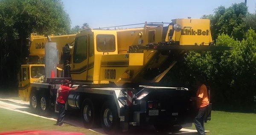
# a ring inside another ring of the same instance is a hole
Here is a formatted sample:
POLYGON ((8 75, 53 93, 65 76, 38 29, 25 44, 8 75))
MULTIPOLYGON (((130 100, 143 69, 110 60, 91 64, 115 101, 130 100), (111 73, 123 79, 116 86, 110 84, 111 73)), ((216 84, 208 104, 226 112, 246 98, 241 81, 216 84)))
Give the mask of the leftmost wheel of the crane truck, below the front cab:
POLYGON ((30 104, 30 109, 32 113, 39 113, 40 103, 39 103, 39 96, 36 91, 32 91, 32 93, 30 94, 29 104, 30 104))

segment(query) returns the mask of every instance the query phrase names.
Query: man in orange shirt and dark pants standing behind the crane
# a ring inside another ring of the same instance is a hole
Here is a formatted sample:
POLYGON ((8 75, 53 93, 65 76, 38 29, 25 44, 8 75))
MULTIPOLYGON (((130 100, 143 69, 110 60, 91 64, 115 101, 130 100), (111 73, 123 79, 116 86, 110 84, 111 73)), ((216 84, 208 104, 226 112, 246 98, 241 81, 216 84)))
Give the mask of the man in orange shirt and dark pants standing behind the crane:
POLYGON ((204 115, 207 112, 207 106, 209 105, 209 98, 207 93, 207 87, 205 86, 205 82, 206 82, 205 78, 203 76, 199 76, 196 82, 199 87, 196 93, 198 114, 195 117, 195 127, 199 135, 205 135, 204 115))

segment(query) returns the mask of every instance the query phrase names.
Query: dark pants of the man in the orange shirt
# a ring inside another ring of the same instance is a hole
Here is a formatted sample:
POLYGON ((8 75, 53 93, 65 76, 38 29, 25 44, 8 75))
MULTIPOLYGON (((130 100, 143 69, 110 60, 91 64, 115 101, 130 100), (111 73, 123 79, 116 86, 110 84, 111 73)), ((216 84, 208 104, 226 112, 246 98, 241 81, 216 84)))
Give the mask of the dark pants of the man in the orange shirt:
POLYGON ((207 107, 201 107, 198 110, 198 114, 195 117, 195 128, 199 135, 205 135, 204 132, 204 115, 207 111, 207 107))

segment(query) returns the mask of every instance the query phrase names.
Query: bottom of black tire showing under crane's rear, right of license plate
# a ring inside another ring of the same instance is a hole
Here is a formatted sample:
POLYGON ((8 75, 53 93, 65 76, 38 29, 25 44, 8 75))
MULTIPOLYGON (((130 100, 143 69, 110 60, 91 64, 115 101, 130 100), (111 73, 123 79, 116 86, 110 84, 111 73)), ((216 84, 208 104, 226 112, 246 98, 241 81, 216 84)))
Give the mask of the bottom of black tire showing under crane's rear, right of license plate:
POLYGON ((154 125, 154 127, 159 132, 177 132, 182 129, 180 125, 154 125))

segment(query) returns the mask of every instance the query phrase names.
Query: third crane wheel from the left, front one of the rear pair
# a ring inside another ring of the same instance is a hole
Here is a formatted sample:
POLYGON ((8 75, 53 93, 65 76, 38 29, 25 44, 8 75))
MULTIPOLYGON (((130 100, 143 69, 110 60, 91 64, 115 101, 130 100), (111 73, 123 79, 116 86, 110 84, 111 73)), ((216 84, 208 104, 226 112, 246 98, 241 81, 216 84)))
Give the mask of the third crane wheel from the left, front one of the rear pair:
POLYGON ((99 114, 97 114, 98 112, 99 110, 97 109, 97 106, 94 105, 89 98, 84 99, 81 108, 81 116, 85 127, 93 128, 99 124, 99 114))

